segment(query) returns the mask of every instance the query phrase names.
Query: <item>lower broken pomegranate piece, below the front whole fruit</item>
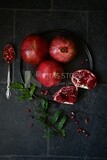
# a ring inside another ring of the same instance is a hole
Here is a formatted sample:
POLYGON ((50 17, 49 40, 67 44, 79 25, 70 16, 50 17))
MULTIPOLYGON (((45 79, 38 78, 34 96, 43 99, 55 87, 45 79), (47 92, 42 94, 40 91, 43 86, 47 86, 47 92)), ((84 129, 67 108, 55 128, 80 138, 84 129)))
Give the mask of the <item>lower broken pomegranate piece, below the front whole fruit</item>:
POLYGON ((65 86, 54 94, 54 101, 64 104, 74 104, 77 101, 78 90, 75 86, 65 86))

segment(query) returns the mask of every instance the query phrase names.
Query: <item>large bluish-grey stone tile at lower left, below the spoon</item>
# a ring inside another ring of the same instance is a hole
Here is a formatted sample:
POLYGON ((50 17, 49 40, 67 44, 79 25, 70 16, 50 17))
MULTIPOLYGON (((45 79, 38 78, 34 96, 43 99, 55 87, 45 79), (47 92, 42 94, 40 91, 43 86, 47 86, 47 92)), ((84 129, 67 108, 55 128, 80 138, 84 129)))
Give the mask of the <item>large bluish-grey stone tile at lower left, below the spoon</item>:
POLYGON ((20 102, 18 94, 12 92, 10 100, 5 98, 5 85, 0 85, 0 156, 2 155, 46 155, 47 140, 43 128, 26 112, 31 104, 20 102), (34 127, 29 124, 34 122, 34 127))

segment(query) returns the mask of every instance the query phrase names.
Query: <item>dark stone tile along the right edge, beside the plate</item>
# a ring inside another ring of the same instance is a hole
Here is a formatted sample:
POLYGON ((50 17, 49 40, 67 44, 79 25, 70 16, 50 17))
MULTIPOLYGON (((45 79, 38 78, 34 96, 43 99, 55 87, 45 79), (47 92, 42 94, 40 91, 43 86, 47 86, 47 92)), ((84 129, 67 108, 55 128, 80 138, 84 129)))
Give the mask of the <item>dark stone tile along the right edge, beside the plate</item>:
POLYGON ((98 81, 107 83, 107 12, 89 13, 89 46, 98 81))

